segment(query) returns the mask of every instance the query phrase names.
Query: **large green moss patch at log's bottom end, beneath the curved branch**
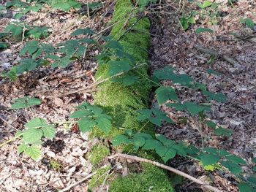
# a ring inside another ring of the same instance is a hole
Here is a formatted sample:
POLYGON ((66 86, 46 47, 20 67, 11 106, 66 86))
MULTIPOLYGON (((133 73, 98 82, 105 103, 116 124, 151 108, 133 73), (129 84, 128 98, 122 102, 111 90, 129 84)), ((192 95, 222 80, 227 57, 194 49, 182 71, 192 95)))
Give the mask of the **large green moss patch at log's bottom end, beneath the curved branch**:
POLYGON ((151 164, 143 164, 143 172, 118 177, 110 185, 110 192, 171 192, 170 180, 166 172, 151 164))

